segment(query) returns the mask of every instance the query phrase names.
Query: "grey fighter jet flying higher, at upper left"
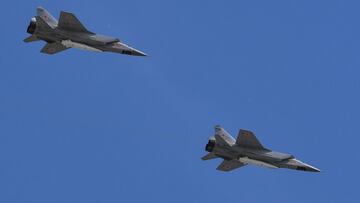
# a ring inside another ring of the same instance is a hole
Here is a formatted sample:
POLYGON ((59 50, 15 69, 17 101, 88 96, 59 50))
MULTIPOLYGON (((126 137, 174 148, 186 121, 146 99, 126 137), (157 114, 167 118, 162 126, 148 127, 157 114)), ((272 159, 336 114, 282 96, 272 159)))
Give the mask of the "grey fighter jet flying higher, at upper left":
POLYGON ((31 34, 24 42, 44 40, 47 44, 41 50, 45 54, 56 54, 69 48, 78 48, 98 52, 146 56, 145 53, 121 43, 119 39, 99 35, 85 28, 72 13, 60 12, 59 22, 44 8, 36 9, 27 28, 31 34))

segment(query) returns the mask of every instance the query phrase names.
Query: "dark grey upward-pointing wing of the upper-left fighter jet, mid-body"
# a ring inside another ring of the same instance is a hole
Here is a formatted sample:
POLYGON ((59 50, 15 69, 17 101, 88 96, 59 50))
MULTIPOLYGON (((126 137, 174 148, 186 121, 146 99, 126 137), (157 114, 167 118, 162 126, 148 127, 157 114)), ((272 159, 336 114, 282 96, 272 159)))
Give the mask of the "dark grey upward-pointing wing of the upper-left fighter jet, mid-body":
POLYGON ((76 16, 72 13, 61 11, 59 18, 59 28, 70 30, 74 32, 89 32, 83 24, 76 18, 76 16))

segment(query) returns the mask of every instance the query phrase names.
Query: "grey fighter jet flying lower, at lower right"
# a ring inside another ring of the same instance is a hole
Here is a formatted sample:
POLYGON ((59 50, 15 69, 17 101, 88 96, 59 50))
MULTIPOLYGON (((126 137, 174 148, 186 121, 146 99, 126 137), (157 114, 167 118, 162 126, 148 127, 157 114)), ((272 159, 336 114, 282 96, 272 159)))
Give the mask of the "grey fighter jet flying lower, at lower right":
POLYGON ((215 126, 215 136, 210 137, 205 150, 209 153, 202 160, 224 159, 217 167, 220 171, 231 171, 247 164, 267 168, 288 168, 301 171, 320 172, 319 169, 305 164, 293 155, 275 152, 263 147, 254 133, 240 130, 236 140, 221 126, 215 126))

